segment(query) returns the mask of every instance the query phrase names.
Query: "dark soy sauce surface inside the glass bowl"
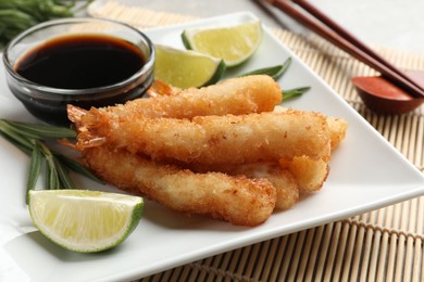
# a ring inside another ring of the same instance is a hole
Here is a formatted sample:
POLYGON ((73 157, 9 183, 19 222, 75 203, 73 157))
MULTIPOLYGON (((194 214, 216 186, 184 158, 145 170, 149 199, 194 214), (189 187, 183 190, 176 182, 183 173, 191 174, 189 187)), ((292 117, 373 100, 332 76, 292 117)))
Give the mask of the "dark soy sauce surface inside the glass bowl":
POLYGON ((129 78, 145 64, 134 44, 103 35, 72 35, 36 47, 15 64, 22 77, 42 86, 87 89, 129 78))

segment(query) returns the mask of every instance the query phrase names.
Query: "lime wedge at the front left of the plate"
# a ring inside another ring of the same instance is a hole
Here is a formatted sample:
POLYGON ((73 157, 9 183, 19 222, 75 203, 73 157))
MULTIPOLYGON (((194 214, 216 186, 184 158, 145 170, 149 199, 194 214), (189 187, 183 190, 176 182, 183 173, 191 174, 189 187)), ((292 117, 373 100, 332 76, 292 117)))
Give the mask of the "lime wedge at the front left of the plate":
POLYGON ((29 191, 33 223, 52 242, 80 253, 121 244, 137 227, 139 196, 87 190, 29 191))

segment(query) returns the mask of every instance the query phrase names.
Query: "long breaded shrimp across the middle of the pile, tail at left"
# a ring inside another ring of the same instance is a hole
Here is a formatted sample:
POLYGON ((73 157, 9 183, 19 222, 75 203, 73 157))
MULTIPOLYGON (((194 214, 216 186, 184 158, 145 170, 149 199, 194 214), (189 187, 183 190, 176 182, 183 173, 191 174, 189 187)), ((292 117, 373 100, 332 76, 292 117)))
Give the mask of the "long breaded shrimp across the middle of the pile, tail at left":
POLYGON ((142 153, 153 159, 176 159, 199 164, 245 164, 278 162, 308 155, 329 158, 325 117, 311 112, 287 111, 242 116, 197 116, 139 118, 79 130, 77 146, 90 148, 104 140, 114 148, 142 153))

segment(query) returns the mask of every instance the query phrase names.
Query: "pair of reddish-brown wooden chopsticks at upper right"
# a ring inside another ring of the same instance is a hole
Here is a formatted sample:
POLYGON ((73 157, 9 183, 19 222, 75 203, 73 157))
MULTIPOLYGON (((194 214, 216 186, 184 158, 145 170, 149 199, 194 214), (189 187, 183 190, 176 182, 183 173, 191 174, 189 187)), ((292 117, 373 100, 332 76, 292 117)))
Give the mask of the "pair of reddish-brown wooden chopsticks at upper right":
POLYGON ((367 64, 384 77, 398 85, 399 87, 409 90, 410 94, 415 98, 424 98, 424 89, 414 80, 408 77, 407 74, 398 69, 396 66, 387 62, 378 55, 361 40, 342 28, 332 18, 305 0, 267 0, 269 3, 285 12, 288 16, 308 27, 333 44, 339 47, 345 52, 349 53, 359 61, 367 64), (297 8, 292 2, 298 4, 297 8), (310 15, 308 15, 308 13, 310 15), (311 16, 312 15, 312 16, 311 16))

